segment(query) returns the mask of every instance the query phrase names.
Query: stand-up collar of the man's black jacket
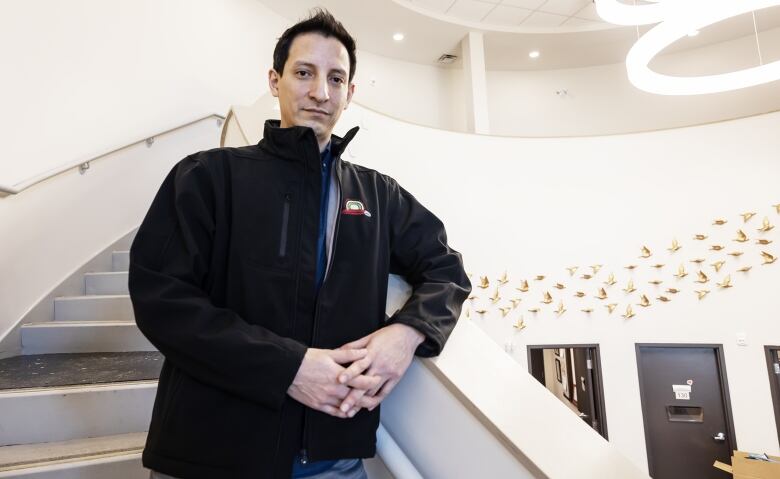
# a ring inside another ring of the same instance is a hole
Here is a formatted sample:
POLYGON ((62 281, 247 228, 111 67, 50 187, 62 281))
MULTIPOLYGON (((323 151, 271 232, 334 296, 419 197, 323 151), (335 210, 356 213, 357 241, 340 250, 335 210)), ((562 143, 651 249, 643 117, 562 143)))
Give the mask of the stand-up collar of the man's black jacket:
MULTIPOLYGON (((305 161, 309 150, 316 151, 319 160, 319 143, 314 135, 314 130, 308 126, 292 126, 282 128, 279 120, 266 120, 263 128, 263 139, 258 146, 270 153, 293 161, 305 161), (314 148, 315 150, 312 150, 314 148)), ((352 138, 355 137, 360 127, 354 127, 344 137, 330 136, 330 154, 333 160, 341 157, 341 153, 347 148, 352 138)))

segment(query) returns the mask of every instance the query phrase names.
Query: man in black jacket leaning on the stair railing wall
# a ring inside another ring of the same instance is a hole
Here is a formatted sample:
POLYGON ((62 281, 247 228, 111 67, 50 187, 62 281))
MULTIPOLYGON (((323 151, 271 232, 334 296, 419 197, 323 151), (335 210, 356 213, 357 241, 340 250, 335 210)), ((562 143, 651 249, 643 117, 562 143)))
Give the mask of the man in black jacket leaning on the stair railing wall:
POLYGON ((258 145, 182 160, 138 231, 136 322, 165 355, 152 477, 365 477, 379 404, 454 327, 470 284, 443 225, 341 160, 357 128, 331 134, 355 63, 329 13, 288 29, 268 76, 281 121, 258 145), (413 294, 388 319, 389 273, 413 294))

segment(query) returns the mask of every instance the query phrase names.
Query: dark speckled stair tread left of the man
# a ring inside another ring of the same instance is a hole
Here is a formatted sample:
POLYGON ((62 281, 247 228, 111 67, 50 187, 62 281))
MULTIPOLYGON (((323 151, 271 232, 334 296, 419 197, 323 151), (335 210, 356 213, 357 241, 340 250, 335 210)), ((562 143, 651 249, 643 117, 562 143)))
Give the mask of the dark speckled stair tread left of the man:
POLYGON ((0 390, 156 380, 163 359, 157 351, 14 356, 0 360, 0 390))

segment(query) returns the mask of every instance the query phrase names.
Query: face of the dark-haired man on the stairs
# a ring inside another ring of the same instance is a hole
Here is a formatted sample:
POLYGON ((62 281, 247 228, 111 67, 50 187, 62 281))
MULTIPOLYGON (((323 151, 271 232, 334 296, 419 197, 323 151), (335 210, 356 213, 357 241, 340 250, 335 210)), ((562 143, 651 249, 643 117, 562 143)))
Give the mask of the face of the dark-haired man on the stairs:
POLYGON ((321 144, 330 139, 355 90, 349 83, 347 49, 336 38, 318 33, 293 39, 283 74, 272 69, 268 84, 279 98, 281 127, 308 126, 321 144))

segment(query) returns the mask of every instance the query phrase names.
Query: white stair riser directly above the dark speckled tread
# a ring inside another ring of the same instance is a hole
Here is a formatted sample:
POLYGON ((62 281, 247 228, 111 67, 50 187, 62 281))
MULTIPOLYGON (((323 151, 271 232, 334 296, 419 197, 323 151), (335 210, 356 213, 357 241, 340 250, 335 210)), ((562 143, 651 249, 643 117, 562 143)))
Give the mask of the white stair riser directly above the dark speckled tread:
POLYGON ((21 327, 22 354, 156 351, 133 321, 51 321, 21 327))

